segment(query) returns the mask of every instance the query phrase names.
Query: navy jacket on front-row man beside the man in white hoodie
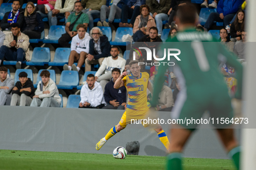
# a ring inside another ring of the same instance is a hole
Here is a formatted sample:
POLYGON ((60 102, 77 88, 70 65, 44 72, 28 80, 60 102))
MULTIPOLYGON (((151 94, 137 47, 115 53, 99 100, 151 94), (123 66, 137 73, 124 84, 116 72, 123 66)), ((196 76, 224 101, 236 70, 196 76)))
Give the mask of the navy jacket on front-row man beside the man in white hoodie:
POLYGON ((115 89, 114 84, 115 83, 113 82, 113 79, 106 84, 104 98, 107 103, 113 100, 117 100, 116 102, 119 102, 119 104, 121 105, 122 103, 126 102, 126 88, 125 86, 123 86, 115 89))

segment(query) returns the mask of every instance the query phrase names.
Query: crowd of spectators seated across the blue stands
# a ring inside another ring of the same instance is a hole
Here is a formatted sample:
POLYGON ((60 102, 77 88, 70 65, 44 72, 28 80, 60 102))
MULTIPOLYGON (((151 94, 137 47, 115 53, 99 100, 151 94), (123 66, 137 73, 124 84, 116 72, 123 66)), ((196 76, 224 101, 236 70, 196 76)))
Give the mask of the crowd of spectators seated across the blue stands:
MULTIPOLYGON (((31 0, 30 0, 31 1, 31 0)), ((127 60, 120 57, 120 47, 110 45, 106 35, 103 35, 101 26, 117 30, 118 27, 133 28, 134 42, 162 42, 164 28, 170 28, 169 38, 175 37, 179 31, 175 24, 175 16, 179 6, 189 3, 190 0, 37 0, 37 5, 28 1, 25 9, 21 6, 25 1, 13 0, 12 10, 5 13, 0 22, 0 65, 3 60, 17 61, 16 69, 21 69, 23 61, 30 61, 29 39, 40 39, 45 25, 57 25, 65 20, 65 34, 58 39, 58 47, 71 49, 68 64, 63 70, 79 72, 83 65, 85 72, 91 71, 92 64, 100 67, 94 74, 86 77, 81 88, 80 108, 125 109, 126 89, 113 88, 114 82, 123 71, 130 72, 129 63, 133 60, 130 52, 127 60), (48 22, 43 22, 47 18, 48 22), (100 19, 94 27, 94 19, 100 19), (114 19, 120 19, 114 24, 114 19), (118 25, 118 26, 117 26, 118 25), (77 64, 75 64, 77 63, 77 64)), ((200 24, 198 31, 209 31, 214 22, 224 22, 220 30, 219 42, 238 56, 239 60, 246 60, 246 5, 249 0, 214 0, 208 4, 204 0, 201 8, 215 8, 216 13, 210 13, 204 27, 200 24)), ((0 4, 1 5, 1 4, 0 4)), ((156 48, 156 46, 150 46, 156 48)), ((139 54, 136 60, 143 62, 139 54)), ((156 61, 155 61, 156 62, 156 61)), ((150 82, 159 66, 151 66, 150 82)), ((144 65, 141 72, 146 71, 144 65)), ((220 71, 227 78, 235 78, 235 69, 220 64, 220 71)), ((20 105, 34 107, 60 107, 61 97, 55 82, 50 78, 50 72, 40 73, 42 81, 34 88, 33 82, 26 72, 19 73, 19 81, 7 75, 7 68, 0 67, 0 105, 20 105)), ((157 110, 170 111, 175 104, 180 90, 178 82, 173 76, 173 68, 165 72, 165 83, 159 96, 157 110), (171 78, 172 77, 172 78, 171 78), (174 79, 173 79, 174 78, 174 79)), ((150 98, 149 98, 150 100, 150 98)))

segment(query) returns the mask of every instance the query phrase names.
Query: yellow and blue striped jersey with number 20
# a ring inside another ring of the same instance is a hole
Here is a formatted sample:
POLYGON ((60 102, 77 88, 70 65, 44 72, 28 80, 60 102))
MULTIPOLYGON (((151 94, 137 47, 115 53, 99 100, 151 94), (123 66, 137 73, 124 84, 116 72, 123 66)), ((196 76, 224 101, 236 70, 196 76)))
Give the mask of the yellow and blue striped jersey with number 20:
POLYGON ((131 110, 148 110, 147 106, 147 88, 149 82, 149 74, 141 72, 140 77, 136 78, 133 74, 126 75, 123 78, 126 86, 129 102, 126 107, 131 110))

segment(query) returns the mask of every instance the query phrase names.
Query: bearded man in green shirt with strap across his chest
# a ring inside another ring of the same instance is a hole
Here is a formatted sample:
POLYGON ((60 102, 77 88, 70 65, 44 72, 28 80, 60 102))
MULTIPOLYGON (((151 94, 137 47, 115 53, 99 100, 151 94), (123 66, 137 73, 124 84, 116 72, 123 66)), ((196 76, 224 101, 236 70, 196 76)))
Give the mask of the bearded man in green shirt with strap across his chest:
MULTIPOLYGON (((70 48, 69 41, 72 40, 75 35, 78 34, 77 32, 77 26, 79 24, 84 24, 85 28, 87 29, 89 18, 86 13, 82 13, 83 6, 80 1, 75 2, 75 13, 72 13, 70 16, 68 16, 68 20, 65 26, 66 33, 61 36, 61 38, 58 39, 58 43, 62 47, 70 48)), ((85 30, 86 32, 87 30, 85 30)))

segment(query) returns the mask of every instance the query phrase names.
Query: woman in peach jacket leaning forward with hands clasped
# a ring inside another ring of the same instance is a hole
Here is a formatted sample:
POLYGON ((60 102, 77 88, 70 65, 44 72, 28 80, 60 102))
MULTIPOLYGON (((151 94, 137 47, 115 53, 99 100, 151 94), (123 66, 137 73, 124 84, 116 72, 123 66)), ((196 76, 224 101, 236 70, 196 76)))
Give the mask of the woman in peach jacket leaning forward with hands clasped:
POLYGON ((149 6, 142 5, 139 8, 140 14, 136 17, 133 26, 133 41, 136 42, 144 35, 149 35, 149 28, 156 27, 155 19, 149 15, 149 6))

